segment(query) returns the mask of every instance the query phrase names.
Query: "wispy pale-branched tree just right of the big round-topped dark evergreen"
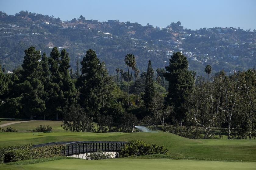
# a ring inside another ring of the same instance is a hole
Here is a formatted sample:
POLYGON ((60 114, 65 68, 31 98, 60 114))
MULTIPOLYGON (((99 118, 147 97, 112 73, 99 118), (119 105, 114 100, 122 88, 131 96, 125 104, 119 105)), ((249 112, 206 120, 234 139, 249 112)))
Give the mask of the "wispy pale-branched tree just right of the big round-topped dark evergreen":
POLYGON ((204 139, 214 137, 214 127, 224 123, 225 117, 221 110, 225 94, 222 86, 224 81, 224 71, 213 77, 213 82, 202 80, 195 86, 184 105, 188 109, 187 121, 202 128, 204 139))

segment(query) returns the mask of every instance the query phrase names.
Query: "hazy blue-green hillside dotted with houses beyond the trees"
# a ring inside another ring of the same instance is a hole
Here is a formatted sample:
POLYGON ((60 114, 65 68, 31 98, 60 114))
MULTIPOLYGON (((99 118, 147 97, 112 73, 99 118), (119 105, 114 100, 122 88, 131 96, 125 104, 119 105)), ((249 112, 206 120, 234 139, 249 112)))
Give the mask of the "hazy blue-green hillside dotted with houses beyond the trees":
POLYGON ((16 15, 0 12, 0 64, 7 71, 23 62, 24 49, 35 46, 48 56, 54 46, 66 48, 71 67, 82 60, 87 49, 94 49, 113 74, 123 63, 127 53, 136 56, 140 73, 151 59, 154 69, 169 63, 173 52, 182 51, 189 60, 190 70, 204 73, 204 66, 212 65, 212 73, 224 69, 247 70, 256 65, 256 31, 239 28, 184 29, 180 22, 166 28, 139 23, 110 20, 98 22, 84 17, 61 21, 49 15, 21 11, 16 15))

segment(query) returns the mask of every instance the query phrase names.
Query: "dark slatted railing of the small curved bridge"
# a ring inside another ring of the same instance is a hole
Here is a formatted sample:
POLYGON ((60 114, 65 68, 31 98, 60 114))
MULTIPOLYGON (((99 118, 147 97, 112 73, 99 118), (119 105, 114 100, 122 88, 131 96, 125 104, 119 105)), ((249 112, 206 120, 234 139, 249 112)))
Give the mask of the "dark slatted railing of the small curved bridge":
POLYGON ((119 152, 124 147, 124 141, 78 141, 67 143, 67 148, 63 150, 63 155, 78 155, 97 151, 119 152))

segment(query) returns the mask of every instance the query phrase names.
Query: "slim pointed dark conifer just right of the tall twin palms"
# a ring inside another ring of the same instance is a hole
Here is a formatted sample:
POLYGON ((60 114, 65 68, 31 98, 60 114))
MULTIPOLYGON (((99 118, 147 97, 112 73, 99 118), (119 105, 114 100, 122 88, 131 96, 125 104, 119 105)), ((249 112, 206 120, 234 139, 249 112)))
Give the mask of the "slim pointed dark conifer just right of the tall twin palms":
POLYGON ((151 66, 151 60, 148 61, 148 70, 145 78, 145 85, 144 85, 144 104, 148 108, 150 102, 152 102, 153 97, 155 96, 155 89, 154 89, 154 70, 151 66))

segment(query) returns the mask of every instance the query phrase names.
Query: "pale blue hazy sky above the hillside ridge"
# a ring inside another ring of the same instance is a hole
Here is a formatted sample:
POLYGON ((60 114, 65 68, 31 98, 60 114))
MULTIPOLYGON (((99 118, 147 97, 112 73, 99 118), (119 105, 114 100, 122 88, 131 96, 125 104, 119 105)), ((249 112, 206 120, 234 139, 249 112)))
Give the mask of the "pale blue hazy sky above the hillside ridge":
POLYGON ((187 29, 240 27, 256 29, 256 0, 0 0, 0 11, 21 10, 54 16, 62 21, 83 15, 100 22, 119 19, 166 27, 180 21, 187 29))

